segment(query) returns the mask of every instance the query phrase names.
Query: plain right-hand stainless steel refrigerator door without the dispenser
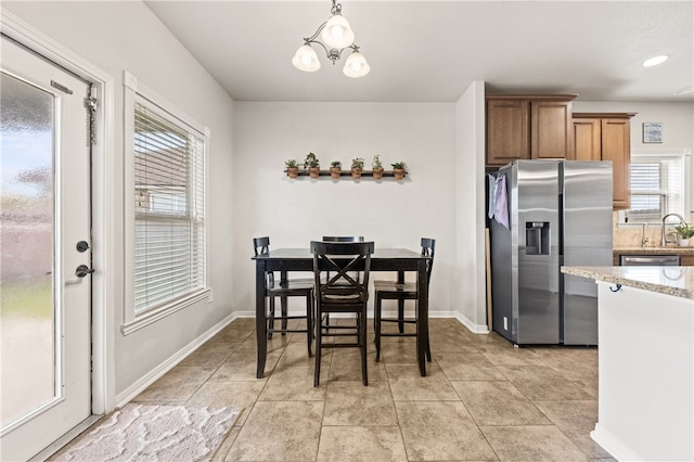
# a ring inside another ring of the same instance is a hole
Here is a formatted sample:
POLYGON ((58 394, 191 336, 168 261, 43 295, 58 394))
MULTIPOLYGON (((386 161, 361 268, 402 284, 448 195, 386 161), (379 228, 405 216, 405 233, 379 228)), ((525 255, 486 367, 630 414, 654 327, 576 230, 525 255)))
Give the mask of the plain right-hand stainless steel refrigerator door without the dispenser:
MULTIPOLYGON (((612 266, 612 162, 564 163, 564 265, 612 266)), ((595 282, 562 274, 565 345, 597 345, 595 282)))

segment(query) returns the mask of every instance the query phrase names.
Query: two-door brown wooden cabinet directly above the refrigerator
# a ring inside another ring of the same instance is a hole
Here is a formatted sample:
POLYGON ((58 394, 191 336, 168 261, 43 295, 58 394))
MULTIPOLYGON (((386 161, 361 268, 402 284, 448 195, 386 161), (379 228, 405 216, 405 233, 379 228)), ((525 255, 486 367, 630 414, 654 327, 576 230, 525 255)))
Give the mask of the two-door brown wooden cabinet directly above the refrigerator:
POLYGON ((570 158, 576 94, 487 94, 487 165, 570 158))

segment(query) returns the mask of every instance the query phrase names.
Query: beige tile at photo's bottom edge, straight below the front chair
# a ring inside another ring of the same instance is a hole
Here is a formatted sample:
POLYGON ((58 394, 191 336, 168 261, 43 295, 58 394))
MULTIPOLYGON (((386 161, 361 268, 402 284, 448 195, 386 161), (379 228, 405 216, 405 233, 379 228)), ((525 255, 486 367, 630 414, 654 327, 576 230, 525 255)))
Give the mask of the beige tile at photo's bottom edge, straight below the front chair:
POLYGON ((398 426, 323 426, 319 462, 407 460, 398 426))

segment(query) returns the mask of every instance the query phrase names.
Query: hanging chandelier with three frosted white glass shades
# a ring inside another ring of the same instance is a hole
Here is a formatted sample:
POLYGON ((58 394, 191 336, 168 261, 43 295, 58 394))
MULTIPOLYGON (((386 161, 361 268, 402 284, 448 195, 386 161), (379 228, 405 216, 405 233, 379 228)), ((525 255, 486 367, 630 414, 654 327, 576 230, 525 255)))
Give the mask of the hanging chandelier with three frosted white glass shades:
POLYGON ((347 20, 343 16, 342 9, 343 5, 336 3, 336 0, 333 0, 331 18, 321 24, 311 37, 304 38, 304 44, 299 47, 292 59, 294 67, 307 73, 320 69, 321 63, 318 61, 318 54, 316 54, 316 50, 311 48, 311 43, 318 43, 325 50, 325 54, 327 59, 333 62, 333 65, 340 59, 345 50, 351 50, 343 68, 343 73, 347 77, 357 78, 369 74, 371 67, 369 67, 363 54, 359 52, 359 47, 354 43, 355 33, 351 30, 351 27, 349 27, 347 20), (323 41, 320 41, 318 36, 321 36, 323 41))

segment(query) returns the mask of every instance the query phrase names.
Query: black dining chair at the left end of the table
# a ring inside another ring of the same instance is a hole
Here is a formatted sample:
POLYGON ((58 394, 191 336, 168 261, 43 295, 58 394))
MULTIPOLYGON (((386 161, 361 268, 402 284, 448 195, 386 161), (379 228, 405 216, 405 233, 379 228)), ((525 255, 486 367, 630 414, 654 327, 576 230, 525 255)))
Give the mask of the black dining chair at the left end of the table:
MULTIPOLYGON (((254 238, 253 245, 255 247, 256 257, 258 255, 268 254, 270 252, 270 238, 254 238)), ((287 332, 306 332, 308 356, 312 357, 311 344, 313 342, 313 279, 287 279, 286 274, 281 274, 280 281, 274 278, 274 272, 268 271, 266 274, 265 296, 269 300, 269 312, 266 317, 268 324, 268 339, 272 338, 274 332, 286 335, 287 332), (275 313, 275 298, 280 297, 281 316, 275 313), (305 297, 306 315, 288 315, 287 297, 305 297), (288 321, 294 319, 305 319, 306 329, 290 329, 288 321), (281 328, 275 328, 275 321, 281 321, 281 328)))

